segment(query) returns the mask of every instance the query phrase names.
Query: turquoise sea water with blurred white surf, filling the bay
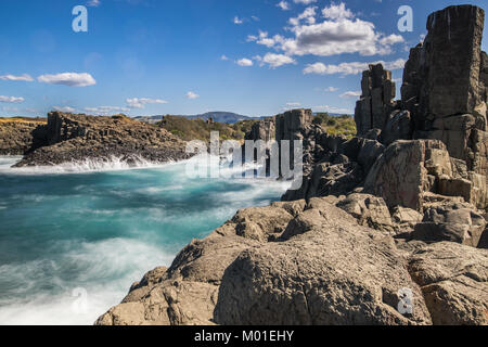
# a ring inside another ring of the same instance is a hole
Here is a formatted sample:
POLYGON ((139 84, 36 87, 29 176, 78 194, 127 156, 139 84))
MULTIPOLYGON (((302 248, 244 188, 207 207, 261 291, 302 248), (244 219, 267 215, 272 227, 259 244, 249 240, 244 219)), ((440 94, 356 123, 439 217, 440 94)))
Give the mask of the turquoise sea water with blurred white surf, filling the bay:
POLYGON ((0 157, 0 324, 92 324, 192 239, 287 188, 191 179, 185 163, 11 169, 17 159, 0 157))

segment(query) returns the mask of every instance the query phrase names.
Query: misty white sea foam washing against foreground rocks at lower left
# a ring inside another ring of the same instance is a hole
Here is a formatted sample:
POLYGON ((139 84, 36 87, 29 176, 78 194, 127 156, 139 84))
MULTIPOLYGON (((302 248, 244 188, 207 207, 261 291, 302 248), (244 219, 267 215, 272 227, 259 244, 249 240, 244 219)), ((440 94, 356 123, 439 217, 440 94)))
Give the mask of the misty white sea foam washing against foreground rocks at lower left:
POLYGON ((119 304, 133 281, 157 267, 169 266, 175 254, 150 243, 111 239, 97 243, 65 242, 68 247, 60 258, 35 260, 0 267, 0 275, 9 279, 22 295, 14 301, 0 299, 0 324, 93 324, 100 314, 119 304), (73 278, 73 269, 79 275, 73 278), (46 277, 46 278, 42 278, 46 277), (114 279, 114 280, 113 280, 114 279), (38 286, 54 286, 56 294, 38 286), (76 310, 80 297, 74 290, 87 294, 85 310, 76 310))

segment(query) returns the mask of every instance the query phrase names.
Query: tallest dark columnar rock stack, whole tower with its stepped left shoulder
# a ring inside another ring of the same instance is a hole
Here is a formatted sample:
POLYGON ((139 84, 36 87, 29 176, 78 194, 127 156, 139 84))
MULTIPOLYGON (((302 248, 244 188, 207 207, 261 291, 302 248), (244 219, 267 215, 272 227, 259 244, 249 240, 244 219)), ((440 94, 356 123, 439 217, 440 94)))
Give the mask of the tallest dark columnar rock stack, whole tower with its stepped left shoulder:
POLYGON ((441 140, 452 157, 486 177, 484 18, 484 10, 474 5, 433 13, 425 41, 410 52, 401 93, 403 107, 412 114, 414 137, 441 140))

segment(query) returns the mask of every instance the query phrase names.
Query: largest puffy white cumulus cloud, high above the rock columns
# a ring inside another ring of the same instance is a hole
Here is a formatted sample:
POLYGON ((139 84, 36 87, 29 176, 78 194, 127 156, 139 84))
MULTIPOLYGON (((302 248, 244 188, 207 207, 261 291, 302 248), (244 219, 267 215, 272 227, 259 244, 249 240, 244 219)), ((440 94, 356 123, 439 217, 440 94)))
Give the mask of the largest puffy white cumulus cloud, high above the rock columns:
MULTIPOLYGON (((304 2, 305 3, 305 2, 304 2)), ((311 3, 311 2, 307 2, 311 3)), ((283 51, 286 55, 330 56, 343 53, 361 55, 390 54, 393 46, 403 42, 400 35, 385 36, 376 31, 371 22, 356 18, 344 3, 331 4, 317 18, 317 7, 309 7, 296 17, 288 20, 292 37, 274 35, 256 37, 254 41, 283 51)))

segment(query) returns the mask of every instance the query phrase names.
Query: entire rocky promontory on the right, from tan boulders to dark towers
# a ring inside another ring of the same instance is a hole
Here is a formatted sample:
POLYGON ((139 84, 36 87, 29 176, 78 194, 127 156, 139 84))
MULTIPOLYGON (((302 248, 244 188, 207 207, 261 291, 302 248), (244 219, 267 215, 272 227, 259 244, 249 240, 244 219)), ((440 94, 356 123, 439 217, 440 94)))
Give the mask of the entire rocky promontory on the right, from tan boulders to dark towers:
POLYGON ((484 15, 428 17, 401 100, 371 65, 354 139, 309 110, 256 125, 248 138, 304 141, 303 187, 192 241, 97 324, 487 325, 484 15))

